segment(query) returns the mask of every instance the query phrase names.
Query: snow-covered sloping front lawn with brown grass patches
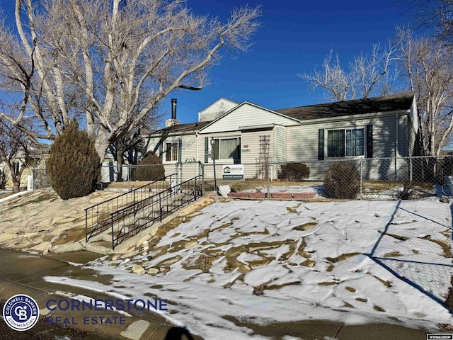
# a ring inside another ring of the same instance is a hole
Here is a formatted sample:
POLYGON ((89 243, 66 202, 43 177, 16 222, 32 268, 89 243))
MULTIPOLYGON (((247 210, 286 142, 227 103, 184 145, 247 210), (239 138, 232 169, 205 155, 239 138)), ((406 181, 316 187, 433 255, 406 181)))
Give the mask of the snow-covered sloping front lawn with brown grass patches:
POLYGON ((205 339, 246 339, 248 322, 453 324, 435 301, 445 300, 453 275, 450 205, 438 198, 227 200, 179 222, 154 232, 149 253, 90 263, 113 276, 111 285, 46 280, 168 299, 164 316, 205 339), (137 265, 156 275, 130 273, 137 265))

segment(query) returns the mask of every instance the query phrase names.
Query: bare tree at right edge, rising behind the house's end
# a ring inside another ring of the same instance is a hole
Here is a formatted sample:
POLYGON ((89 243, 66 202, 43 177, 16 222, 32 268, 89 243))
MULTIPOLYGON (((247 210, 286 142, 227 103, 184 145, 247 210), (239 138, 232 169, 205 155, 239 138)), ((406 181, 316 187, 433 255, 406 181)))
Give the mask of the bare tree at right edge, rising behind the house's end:
POLYGON ((453 130, 453 47, 432 37, 413 38, 397 29, 402 69, 415 92, 426 155, 439 155, 453 130))

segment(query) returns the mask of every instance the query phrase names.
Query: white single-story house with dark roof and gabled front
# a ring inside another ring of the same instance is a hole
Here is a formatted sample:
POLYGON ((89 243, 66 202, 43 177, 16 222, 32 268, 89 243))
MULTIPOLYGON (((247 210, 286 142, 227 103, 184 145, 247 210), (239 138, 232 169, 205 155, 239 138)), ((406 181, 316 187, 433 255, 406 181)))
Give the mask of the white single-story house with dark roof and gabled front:
MULTIPOLYGON (((309 165, 420 154, 419 120, 412 93, 279 110, 220 98, 198 114, 197 123, 189 124, 179 124, 176 100, 172 105, 172 119, 166 121, 166 128, 147 136, 149 150, 167 166, 197 161, 212 164, 213 157, 216 164, 309 165)), ((371 175, 372 169, 368 169, 370 176, 388 175, 383 174, 390 169, 382 171, 382 164, 369 164, 381 174, 371 175)))

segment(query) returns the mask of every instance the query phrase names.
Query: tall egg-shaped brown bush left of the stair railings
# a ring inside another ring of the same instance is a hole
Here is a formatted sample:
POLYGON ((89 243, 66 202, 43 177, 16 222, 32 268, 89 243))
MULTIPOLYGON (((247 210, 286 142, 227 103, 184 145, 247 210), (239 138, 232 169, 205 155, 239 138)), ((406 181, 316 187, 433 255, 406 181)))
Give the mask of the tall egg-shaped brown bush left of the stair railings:
POLYGON ((52 188, 62 200, 86 196, 96 190, 96 182, 101 176, 101 159, 94 140, 86 131, 79 130, 75 118, 62 135, 55 138, 46 170, 52 188))

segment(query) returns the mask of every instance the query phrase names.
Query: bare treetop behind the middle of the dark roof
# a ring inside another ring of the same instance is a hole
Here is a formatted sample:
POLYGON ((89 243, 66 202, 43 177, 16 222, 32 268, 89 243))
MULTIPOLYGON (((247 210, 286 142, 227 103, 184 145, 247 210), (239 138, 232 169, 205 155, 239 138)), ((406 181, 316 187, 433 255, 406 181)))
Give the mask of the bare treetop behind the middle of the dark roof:
POLYGON ((382 96, 391 91, 396 52, 395 45, 384 49, 379 44, 373 45, 371 53, 357 55, 345 70, 338 55, 334 56, 331 50, 321 70, 315 69, 313 73, 298 76, 309 81, 312 89, 321 87, 331 101, 367 98, 372 94, 382 96))

